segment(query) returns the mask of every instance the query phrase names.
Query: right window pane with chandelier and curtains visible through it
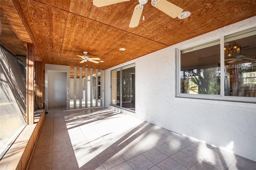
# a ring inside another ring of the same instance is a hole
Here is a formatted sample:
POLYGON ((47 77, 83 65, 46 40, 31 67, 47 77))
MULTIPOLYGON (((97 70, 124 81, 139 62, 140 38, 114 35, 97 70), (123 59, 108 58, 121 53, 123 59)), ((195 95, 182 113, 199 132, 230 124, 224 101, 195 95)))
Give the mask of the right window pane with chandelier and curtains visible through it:
POLYGON ((256 97, 256 28, 226 36, 226 96, 256 97))

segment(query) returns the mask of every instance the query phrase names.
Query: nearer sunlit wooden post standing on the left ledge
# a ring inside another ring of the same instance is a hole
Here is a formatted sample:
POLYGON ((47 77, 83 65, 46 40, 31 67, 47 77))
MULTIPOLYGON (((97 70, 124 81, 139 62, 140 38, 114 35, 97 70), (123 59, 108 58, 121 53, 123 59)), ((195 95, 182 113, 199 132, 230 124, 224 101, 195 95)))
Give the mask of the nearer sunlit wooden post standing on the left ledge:
POLYGON ((27 43, 27 71, 26 71, 26 113, 27 125, 34 124, 34 44, 27 43))

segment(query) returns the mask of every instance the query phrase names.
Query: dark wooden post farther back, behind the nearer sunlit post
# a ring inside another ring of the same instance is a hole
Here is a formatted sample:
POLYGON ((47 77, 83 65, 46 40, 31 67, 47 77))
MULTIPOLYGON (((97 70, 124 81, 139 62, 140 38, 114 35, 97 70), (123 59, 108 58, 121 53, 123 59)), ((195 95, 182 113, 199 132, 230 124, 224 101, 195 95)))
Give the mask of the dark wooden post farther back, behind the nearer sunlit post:
POLYGON ((43 109, 43 71, 42 61, 36 61, 36 105, 38 109, 43 109))

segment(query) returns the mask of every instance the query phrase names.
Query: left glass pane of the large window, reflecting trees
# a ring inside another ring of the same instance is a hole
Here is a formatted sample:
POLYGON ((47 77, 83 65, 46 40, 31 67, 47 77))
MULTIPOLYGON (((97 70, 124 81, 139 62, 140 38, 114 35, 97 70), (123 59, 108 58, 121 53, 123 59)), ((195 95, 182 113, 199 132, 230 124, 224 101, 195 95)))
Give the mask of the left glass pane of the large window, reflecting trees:
POLYGON ((220 40, 181 51, 180 93, 220 95, 220 40))

